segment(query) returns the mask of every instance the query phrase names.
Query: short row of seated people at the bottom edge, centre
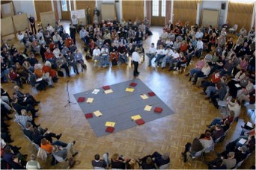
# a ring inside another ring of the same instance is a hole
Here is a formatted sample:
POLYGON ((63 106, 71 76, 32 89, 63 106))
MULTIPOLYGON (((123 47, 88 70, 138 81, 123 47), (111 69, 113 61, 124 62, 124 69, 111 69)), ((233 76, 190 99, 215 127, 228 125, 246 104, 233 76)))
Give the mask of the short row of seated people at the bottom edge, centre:
POLYGON ((165 169, 168 169, 170 163, 168 153, 159 154, 157 151, 138 158, 138 160, 126 158, 119 154, 113 154, 109 160, 109 153, 103 154, 102 159, 100 159, 100 155, 95 154, 94 160, 91 161, 94 169, 158 169, 161 166, 166 166, 165 169))

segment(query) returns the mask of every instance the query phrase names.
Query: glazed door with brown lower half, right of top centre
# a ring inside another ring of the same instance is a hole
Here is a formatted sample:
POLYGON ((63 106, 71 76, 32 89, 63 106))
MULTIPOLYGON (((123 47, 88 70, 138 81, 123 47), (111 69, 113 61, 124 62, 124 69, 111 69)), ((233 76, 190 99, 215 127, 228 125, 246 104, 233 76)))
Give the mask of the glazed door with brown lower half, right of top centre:
POLYGON ((152 0, 151 9, 151 25, 164 26, 165 25, 165 3, 166 0, 152 0))

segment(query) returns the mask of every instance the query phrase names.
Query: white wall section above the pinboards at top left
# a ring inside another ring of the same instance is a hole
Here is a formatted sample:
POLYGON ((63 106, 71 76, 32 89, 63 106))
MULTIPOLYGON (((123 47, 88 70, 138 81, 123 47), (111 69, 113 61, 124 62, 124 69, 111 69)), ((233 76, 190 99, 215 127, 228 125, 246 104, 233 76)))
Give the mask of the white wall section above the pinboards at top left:
POLYGON ((13 6, 16 11, 15 14, 18 12, 23 12, 27 13, 28 17, 30 15, 34 16, 34 19, 37 20, 37 13, 34 8, 34 1, 29 0, 29 1, 15 1, 13 0, 13 6))

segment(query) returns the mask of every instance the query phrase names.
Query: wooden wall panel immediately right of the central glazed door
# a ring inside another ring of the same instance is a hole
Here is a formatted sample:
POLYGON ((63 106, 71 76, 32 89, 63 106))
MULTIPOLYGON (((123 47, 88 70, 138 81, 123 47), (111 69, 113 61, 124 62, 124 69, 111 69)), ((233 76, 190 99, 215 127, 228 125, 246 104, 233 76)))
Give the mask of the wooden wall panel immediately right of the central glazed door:
POLYGON ((190 22, 190 25, 196 22, 197 13, 197 3, 198 1, 174 1, 174 19, 175 24, 180 20, 183 24, 186 21, 190 22))

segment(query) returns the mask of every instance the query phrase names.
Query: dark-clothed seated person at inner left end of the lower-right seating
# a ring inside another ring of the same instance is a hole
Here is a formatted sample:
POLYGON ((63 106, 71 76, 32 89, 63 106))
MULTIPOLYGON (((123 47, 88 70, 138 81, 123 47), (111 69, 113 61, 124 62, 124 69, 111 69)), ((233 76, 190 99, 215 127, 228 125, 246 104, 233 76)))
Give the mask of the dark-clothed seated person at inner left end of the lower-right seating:
POLYGON ((202 145, 201 141, 198 138, 194 138, 192 143, 187 142, 185 145, 184 152, 181 153, 184 158, 183 162, 186 163, 189 154, 193 155, 198 151, 202 151, 203 149, 204 146, 202 145))

